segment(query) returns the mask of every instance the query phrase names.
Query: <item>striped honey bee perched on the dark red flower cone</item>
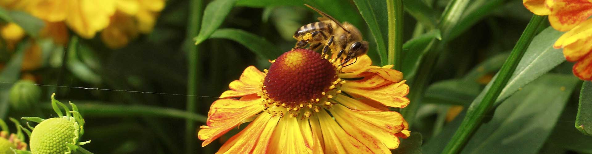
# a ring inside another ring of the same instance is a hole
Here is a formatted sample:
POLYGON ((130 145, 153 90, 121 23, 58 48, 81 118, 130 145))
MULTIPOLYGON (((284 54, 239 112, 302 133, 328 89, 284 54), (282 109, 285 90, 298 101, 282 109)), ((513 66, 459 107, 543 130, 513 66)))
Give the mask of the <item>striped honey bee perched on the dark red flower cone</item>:
POLYGON ((332 50, 339 51, 337 58, 342 60, 340 65, 354 58, 356 60, 353 63, 355 63, 358 60, 358 56, 362 56, 368 52, 368 41, 362 40, 362 34, 358 28, 347 22, 343 24, 339 23, 339 21, 325 12, 307 4, 304 5, 317 11, 323 17, 318 18, 319 21, 316 23, 303 25, 294 33, 293 37, 298 41, 294 49, 303 49, 308 44, 310 44, 309 47, 311 50, 316 50, 320 46, 324 46, 322 50, 324 57, 327 57, 325 55, 332 50))

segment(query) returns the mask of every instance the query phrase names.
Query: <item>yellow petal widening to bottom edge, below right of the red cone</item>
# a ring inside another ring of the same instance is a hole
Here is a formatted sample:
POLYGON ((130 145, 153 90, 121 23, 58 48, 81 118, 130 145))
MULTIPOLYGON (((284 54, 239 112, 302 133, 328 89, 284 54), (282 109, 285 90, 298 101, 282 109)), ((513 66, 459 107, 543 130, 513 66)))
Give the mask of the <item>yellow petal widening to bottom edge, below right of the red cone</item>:
POLYGON ((323 131, 325 153, 371 153, 368 147, 346 133, 327 111, 321 110, 317 115, 323 131))

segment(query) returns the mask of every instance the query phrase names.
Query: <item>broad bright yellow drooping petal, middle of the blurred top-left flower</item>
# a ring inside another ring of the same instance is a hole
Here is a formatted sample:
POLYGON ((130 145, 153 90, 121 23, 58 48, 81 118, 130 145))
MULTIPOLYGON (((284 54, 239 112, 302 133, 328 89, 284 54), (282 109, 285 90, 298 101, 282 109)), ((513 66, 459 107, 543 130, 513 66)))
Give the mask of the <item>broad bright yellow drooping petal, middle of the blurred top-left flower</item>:
POLYGON ((79 0, 70 1, 70 13, 66 24, 85 39, 95 37, 97 31, 109 25, 110 17, 115 13, 114 0, 79 0))

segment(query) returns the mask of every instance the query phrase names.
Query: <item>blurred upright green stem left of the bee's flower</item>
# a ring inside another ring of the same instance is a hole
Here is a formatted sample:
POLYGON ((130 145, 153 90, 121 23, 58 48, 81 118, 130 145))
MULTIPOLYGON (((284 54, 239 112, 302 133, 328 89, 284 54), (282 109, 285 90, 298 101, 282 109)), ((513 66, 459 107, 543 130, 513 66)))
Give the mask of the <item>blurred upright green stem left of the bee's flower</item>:
MULTIPOLYGON (((188 52, 188 83, 187 83, 187 105, 186 110, 188 113, 195 113, 195 105, 197 104, 198 88, 201 82, 201 65, 200 65, 200 53, 198 47, 192 43, 193 38, 200 32, 201 26, 201 15, 202 15, 203 2, 201 0, 189 1, 189 17, 187 25, 187 36, 186 36, 186 50, 188 52)), ((186 119, 185 121, 185 152, 194 152, 195 146, 195 121, 186 119)))

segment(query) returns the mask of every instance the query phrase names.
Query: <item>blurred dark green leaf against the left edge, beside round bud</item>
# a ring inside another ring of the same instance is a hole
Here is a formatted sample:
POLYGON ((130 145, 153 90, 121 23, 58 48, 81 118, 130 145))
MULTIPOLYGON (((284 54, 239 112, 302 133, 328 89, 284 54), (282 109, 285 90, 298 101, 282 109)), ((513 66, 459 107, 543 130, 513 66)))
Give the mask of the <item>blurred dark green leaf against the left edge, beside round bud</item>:
POLYGON ((8 114, 8 100, 12 83, 17 82, 21 72, 22 57, 24 50, 30 47, 29 41, 23 41, 17 47, 17 52, 12 55, 11 60, 0 72, 0 118, 5 118, 8 114))

